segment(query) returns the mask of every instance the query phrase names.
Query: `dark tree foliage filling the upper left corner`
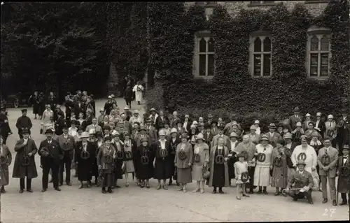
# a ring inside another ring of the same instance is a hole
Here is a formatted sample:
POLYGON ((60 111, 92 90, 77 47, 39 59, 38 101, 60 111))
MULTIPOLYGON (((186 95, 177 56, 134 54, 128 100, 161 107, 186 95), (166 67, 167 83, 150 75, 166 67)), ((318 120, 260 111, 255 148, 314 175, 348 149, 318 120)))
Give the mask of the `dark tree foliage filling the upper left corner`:
POLYGON ((1 76, 11 87, 6 93, 102 93, 97 86, 108 75, 105 4, 20 2, 5 3, 4 10, 1 76))

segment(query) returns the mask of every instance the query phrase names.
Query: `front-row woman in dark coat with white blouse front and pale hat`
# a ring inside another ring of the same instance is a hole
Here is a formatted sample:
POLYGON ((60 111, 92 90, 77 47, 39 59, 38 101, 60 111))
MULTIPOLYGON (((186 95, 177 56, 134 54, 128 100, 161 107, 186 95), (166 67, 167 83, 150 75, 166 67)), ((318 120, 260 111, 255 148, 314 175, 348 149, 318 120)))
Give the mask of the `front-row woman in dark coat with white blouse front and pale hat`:
POLYGON ((170 143, 165 139, 166 133, 164 129, 159 131, 159 141, 153 144, 153 154, 155 157, 153 178, 158 180, 157 189, 160 189, 160 180, 163 180, 163 189, 168 189, 166 182, 171 177, 172 160, 170 159, 170 143))

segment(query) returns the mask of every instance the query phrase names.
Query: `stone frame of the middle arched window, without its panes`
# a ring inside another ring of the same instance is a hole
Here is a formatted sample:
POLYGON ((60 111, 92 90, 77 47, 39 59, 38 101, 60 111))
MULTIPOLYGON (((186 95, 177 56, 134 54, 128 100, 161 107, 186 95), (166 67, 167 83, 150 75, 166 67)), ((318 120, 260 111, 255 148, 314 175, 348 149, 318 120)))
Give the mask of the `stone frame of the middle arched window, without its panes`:
POLYGON ((269 31, 253 31, 250 35, 249 35, 249 65, 248 65, 248 70, 249 73, 251 74, 251 77, 253 78, 271 78, 272 77, 272 51, 273 50, 273 44, 272 44, 272 35, 269 31), (267 51, 267 52, 254 52, 254 42, 256 40, 256 38, 260 38, 261 41, 261 49, 263 50, 263 44, 265 41, 265 38, 269 38, 269 40, 271 41, 271 50, 267 51), (254 55, 261 55, 262 59, 261 59, 261 65, 260 65, 260 75, 254 75, 254 55), (270 55, 270 75, 263 75, 264 73, 264 55, 270 55))

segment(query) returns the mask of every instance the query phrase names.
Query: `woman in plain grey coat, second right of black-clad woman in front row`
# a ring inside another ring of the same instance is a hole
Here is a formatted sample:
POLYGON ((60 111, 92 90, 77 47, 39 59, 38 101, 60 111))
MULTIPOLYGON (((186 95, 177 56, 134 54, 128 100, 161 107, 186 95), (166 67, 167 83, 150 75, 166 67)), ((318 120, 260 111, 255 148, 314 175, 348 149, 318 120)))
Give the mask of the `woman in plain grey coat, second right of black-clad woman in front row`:
POLYGON ((177 169, 177 182, 181 184, 179 190, 187 192, 186 185, 192 182, 191 166, 193 163, 193 148, 188 143, 187 133, 181 135, 181 143, 177 145, 174 162, 177 169))

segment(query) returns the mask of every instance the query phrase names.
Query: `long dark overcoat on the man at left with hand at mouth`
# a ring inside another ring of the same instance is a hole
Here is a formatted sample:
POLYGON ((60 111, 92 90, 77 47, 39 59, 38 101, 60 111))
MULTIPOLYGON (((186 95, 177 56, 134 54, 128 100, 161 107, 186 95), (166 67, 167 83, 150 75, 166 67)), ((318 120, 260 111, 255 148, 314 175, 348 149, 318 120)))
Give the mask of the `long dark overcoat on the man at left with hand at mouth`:
POLYGON ((28 139, 27 142, 27 151, 28 153, 31 152, 30 157, 30 166, 22 166, 20 164, 22 157, 27 154, 27 152, 24 150, 25 145, 23 143, 25 142, 24 139, 20 139, 15 144, 15 163, 13 164, 13 178, 25 178, 28 179, 36 178, 38 176, 38 171, 36 171, 36 164, 35 164, 35 154, 38 152, 38 148, 36 148, 35 142, 32 139, 28 139))

